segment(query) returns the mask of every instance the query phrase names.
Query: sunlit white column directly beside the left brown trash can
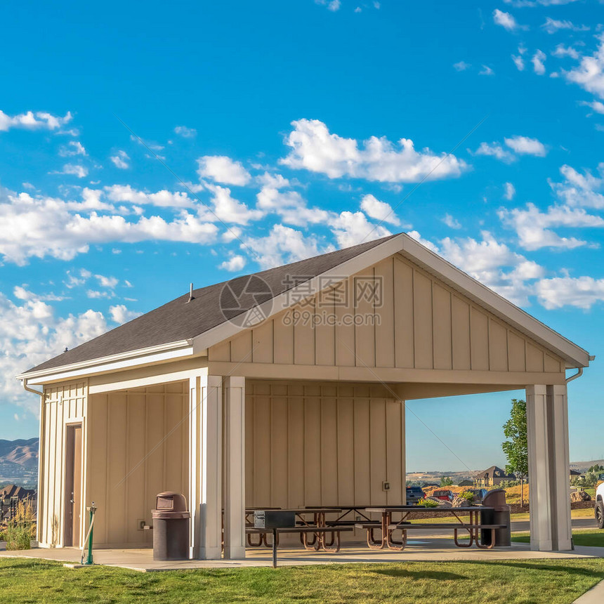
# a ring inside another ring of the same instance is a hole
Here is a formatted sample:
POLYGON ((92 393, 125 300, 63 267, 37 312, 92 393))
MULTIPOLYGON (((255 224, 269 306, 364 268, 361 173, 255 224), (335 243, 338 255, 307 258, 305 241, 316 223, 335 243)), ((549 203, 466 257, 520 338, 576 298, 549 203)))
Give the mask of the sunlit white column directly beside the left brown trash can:
POLYGON ((216 560, 222 549, 222 378, 191 376, 189 407, 190 557, 216 560))

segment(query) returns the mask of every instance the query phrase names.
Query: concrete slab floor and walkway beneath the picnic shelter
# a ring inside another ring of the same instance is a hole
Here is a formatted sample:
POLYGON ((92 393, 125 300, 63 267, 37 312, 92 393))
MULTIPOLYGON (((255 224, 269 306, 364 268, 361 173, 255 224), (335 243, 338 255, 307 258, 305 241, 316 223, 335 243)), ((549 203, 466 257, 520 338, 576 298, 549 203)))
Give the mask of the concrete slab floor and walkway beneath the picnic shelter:
MULTIPOLYGON (((81 552, 72 548, 36 548, 25 551, 0 551, 0 557, 38 558, 65 563, 79 563, 81 552)), ((181 560, 159 562, 153 560, 152 549, 97 549, 96 564, 129 568, 141 572, 162 570, 189 570, 202 568, 268 567, 272 564, 269 549, 250 548, 245 560, 181 560)), ((531 551, 528 544, 513 544, 509 548, 482 550, 475 547, 460 549, 451 539, 424 539, 410 541, 404 551, 369 550, 362 544, 347 544, 339 553, 317 553, 302 548, 282 547, 278 551, 280 566, 316 565, 334 563, 384 563, 384 562, 454 562, 459 560, 535 560, 563 558, 602 558, 604 548, 579 547, 570 552, 531 551)), ((85 572, 80 569, 74 572, 85 572)))

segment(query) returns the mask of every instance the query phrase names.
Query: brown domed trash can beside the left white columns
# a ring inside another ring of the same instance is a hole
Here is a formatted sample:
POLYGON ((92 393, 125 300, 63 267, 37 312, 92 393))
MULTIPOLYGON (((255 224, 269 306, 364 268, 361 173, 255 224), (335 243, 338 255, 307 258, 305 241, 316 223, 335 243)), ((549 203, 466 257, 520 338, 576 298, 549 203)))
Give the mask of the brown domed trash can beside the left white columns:
POLYGON ((153 560, 188 560, 191 514, 181 493, 157 495, 153 518, 153 560))

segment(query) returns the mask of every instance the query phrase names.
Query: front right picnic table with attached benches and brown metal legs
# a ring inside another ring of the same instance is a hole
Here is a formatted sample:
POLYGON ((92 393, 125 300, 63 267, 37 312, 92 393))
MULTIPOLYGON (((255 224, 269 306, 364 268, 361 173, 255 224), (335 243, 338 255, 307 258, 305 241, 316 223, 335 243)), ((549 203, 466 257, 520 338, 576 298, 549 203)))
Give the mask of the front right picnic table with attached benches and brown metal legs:
MULTIPOLYGON (((445 524, 424 524, 421 525, 421 528, 433 527, 433 528, 449 528, 452 527, 454 529, 454 541, 455 545, 458 547, 471 547, 473 543, 476 543, 476 546, 480 546, 479 539, 479 530, 481 528, 489 528, 494 531, 497 527, 495 525, 481 525, 480 524, 480 512, 485 510, 492 510, 493 508, 488 508, 484 506, 464 506, 460 508, 418 508, 418 506, 382 506, 382 507, 369 507, 365 508, 367 513, 380 513, 381 514, 381 523, 377 526, 374 523, 367 523, 362 525, 363 528, 367 530, 367 545, 371 549, 383 549, 384 547, 388 547, 388 549, 395 549, 400 551, 405 548, 407 543, 407 530, 409 527, 417 527, 418 525, 412 525, 409 523, 409 514, 413 512, 422 513, 430 513, 434 516, 442 516, 445 513, 450 513, 457 519, 459 525, 456 523, 445 524), (393 513, 400 513, 401 518, 398 522, 393 522, 392 515, 393 513), (461 516, 469 516, 469 521, 465 522, 462 520, 461 516), (381 530, 381 539, 374 538, 374 529, 379 528, 381 530), (463 529, 468 531, 470 534, 470 541, 468 544, 460 544, 457 539, 457 531, 459 529, 463 529), (393 532, 395 530, 402 531, 402 541, 395 541, 393 539, 393 532)), ((494 539, 492 539, 492 544, 494 539)))

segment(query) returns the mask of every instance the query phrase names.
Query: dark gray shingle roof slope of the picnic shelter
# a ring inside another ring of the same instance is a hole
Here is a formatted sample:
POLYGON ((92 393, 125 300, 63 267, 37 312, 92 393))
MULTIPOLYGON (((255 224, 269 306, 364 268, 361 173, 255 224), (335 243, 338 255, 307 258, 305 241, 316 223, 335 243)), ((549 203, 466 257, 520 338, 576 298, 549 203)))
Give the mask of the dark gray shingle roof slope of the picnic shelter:
MULTIPOLYGON (((331 251, 328 254, 254 273, 268 284, 271 293, 267 293, 261 298, 258 298, 258 296, 244 296, 243 300, 239 299, 242 308, 236 311, 233 310, 229 317, 238 315, 244 310, 249 310, 257 303, 291 289, 293 287, 293 284, 291 284, 292 277, 298 283, 305 277, 312 279, 396 236, 382 237, 346 249, 331 251)), ((250 275, 245 275, 236 277, 230 280, 229 283, 233 291, 240 293, 249 282, 249 279, 250 275)), ((102 336, 53 357, 37 367, 32 367, 27 373, 192 339, 204 334, 209 329, 225 322, 225 315, 219 304, 225 283, 227 282, 195 289, 193 291, 194 299, 190 303, 186 303, 189 294, 178 296, 178 298, 164 304, 164 306, 107 331, 102 336)))

